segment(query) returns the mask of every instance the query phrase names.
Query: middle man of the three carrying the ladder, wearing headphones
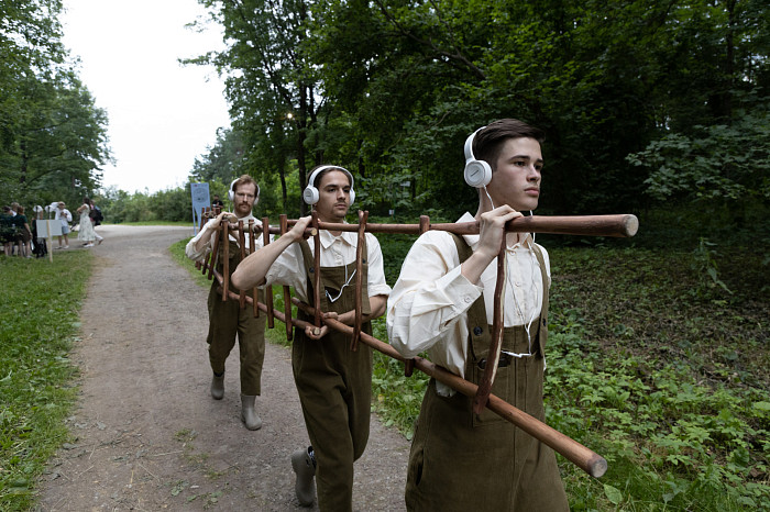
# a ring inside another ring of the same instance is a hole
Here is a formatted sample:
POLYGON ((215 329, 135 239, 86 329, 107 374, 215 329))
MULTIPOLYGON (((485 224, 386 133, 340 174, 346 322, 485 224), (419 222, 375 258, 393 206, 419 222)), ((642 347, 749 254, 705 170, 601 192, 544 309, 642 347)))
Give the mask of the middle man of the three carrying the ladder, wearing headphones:
MULTIPOLYGON (((353 176, 339 166, 319 166, 310 174, 302 199, 312 204, 322 222, 343 223, 355 198, 353 176)), ((248 257, 232 276, 233 285, 253 287, 284 285, 312 303, 314 247, 304 233, 310 216, 299 219, 285 235, 248 257)), ((377 238, 366 233, 361 290, 355 289, 358 234, 321 231, 321 310, 327 318, 353 325, 355 293, 363 299, 362 331, 372 333, 370 321, 385 312, 391 288, 385 282, 383 255, 377 238)), ((312 319, 299 313, 304 320, 312 319)), ((295 491, 300 504, 312 504, 317 480, 321 511, 352 509, 353 463, 369 441, 372 392, 372 350, 359 344, 350 349, 351 336, 326 325, 295 330, 292 346, 294 379, 302 405, 310 444, 295 452, 295 491)))

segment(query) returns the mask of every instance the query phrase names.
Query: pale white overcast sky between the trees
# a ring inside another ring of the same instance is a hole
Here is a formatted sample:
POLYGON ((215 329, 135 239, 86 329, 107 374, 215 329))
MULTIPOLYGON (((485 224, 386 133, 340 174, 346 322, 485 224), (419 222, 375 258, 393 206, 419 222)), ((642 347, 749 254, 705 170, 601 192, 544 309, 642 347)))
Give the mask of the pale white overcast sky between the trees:
POLYGON ((64 0, 64 44, 79 76, 109 115, 114 166, 105 187, 128 192, 175 188, 217 129, 229 126, 222 81, 211 67, 178 58, 223 47, 217 25, 197 33, 185 24, 205 16, 197 0, 64 0))

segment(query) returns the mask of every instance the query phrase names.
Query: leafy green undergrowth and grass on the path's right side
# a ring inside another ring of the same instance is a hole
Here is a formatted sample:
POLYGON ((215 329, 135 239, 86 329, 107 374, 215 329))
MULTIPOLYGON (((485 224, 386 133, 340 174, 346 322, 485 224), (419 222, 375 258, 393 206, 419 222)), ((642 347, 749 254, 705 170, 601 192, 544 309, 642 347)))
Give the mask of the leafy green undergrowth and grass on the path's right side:
MULTIPOLYGON (((380 240, 393 282, 409 243, 380 240)), ((765 252, 616 245, 550 251, 547 421, 609 464, 596 480, 559 457, 571 509, 770 510, 765 252)), ((403 374, 375 354, 372 407, 410 438, 427 378, 403 374)))

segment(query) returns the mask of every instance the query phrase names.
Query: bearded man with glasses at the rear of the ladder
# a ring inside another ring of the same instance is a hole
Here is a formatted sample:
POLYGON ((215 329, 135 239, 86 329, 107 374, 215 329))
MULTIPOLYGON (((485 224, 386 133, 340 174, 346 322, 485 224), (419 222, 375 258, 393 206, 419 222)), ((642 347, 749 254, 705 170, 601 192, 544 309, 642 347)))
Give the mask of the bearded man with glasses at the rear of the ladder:
MULTIPOLYGON (((243 175, 230 183, 228 197, 233 207, 233 213, 221 212, 211 219, 198 232, 198 234, 187 243, 185 253, 187 257, 197 261, 202 261, 206 255, 213 251, 215 237, 219 236, 217 227, 222 219, 228 218, 230 222, 243 221, 244 227, 249 226, 249 221, 254 219, 254 224, 261 226, 262 222, 254 218, 252 210, 260 200, 260 186, 249 175, 243 175)), ((229 268, 234 271, 241 263, 241 247, 237 234, 229 236, 229 268)), ((246 254, 262 247, 262 236, 255 236, 255 247, 249 246, 249 236, 245 236, 246 254)), ((221 257, 223 251, 220 246, 218 258, 218 270, 223 271, 221 257)), ((222 301, 219 283, 215 280, 209 291, 209 333, 206 342, 209 344, 209 361, 213 376, 211 378, 211 397, 221 400, 224 397, 224 363, 235 345, 238 335, 238 347, 241 359, 241 421, 250 431, 255 431, 262 426, 262 420, 254 410, 256 396, 262 393, 262 364, 265 358, 265 315, 254 318, 251 308, 241 309, 237 300, 229 299, 222 301)), ((239 290, 232 289, 235 293, 239 290)), ((253 297, 253 288, 245 288, 246 294, 253 297)), ((258 300, 264 302, 262 290, 257 292, 258 300)))

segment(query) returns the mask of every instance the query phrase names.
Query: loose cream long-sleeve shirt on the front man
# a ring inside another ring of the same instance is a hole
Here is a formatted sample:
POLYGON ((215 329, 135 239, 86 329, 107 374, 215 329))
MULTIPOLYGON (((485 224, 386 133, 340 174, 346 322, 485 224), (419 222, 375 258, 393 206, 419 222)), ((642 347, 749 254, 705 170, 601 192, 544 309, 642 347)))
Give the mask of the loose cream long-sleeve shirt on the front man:
MULTIPOLYGON (((465 213, 458 222, 473 222, 465 213)), ((479 235, 463 238, 475 251, 479 235)), ((543 289, 540 265, 531 247, 530 235, 506 252, 507 282, 504 296, 506 327, 528 325, 540 314, 543 289)), ((548 253, 540 247, 549 276, 548 253)), ((487 323, 494 319, 494 292, 497 259, 482 274, 480 283, 462 274, 460 258, 451 234, 429 231, 407 254, 402 272, 387 301, 387 333, 391 344, 404 356, 427 352, 430 360, 451 372, 465 377, 468 356, 468 311, 484 292, 487 323)), ((439 394, 453 394, 437 382, 439 394)))

